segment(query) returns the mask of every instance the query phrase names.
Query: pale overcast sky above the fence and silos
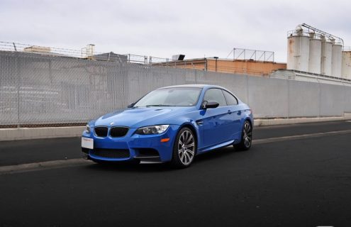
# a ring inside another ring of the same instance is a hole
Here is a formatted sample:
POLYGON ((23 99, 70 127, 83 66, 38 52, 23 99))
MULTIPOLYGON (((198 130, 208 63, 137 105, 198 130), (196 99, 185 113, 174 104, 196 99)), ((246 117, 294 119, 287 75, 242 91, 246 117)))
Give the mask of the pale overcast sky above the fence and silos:
POLYGON ((351 45, 351 1, 0 0, 0 41, 155 57, 227 57, 233 48, 274 51, 307 23, 351 45))

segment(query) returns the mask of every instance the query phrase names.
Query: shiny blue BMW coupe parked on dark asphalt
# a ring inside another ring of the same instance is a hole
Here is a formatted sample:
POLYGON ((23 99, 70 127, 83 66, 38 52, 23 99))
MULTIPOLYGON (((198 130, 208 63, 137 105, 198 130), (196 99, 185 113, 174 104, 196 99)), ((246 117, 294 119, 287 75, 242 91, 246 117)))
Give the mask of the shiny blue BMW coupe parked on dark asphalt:
POLYGON ((184 168, 196 155, 216 148, 249 150, 252 126, 250 107, 223 87, 162 87, 128 109, 90 121, 82 152, 99 163, 171 162, 184 168))

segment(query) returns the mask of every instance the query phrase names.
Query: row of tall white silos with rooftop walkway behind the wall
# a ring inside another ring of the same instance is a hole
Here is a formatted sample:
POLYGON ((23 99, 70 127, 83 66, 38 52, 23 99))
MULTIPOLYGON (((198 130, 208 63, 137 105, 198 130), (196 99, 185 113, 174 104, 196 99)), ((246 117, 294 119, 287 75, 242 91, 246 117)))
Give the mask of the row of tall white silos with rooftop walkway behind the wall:
POLYGON ((303 23, 288 32, 286 69, 351 79, 351 52, 342 38, 303 23))

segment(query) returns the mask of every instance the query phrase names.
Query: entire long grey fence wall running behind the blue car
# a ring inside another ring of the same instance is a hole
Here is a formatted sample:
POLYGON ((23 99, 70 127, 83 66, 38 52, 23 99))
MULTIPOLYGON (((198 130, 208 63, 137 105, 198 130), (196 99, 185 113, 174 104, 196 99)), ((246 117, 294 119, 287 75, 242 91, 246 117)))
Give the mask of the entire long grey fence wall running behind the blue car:
POLYGON ((86 123, 123 109, 157 87, 218 84, 257 118, 342 116, 351 112, 345 82, 296 81, 129 62, 0 51, 0 126, 86 123))

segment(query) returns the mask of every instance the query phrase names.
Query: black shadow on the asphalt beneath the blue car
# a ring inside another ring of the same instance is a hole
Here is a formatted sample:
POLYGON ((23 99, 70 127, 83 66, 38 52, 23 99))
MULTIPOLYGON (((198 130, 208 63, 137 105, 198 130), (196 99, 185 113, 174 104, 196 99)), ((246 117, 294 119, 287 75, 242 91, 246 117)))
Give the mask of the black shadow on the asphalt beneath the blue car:
MULTIPOLYGON (((197 155, 192 166, 205 165, 206 162, 218 162, 221 159, 228 158, 230 156, 240 156, 240 151, 236 151, 232 146, 225 148, 218 148, 216 150, 211 150, 208 153, 197 155)), ((192 167, 191 166, 191 167, 192 167)), ((179 171, 182 169, 176 169, 172 167, 169 162, 165 163, 141 163, 135 165, 128 162, 113 162, 113 163, 94 163, 91 165, 85 165, 85 168, 89 170, 98 171, 118 171, 118 172, 165 172, 165 171, 179 171)), ((190 167, 190 168, 191 168, 190 167)))

